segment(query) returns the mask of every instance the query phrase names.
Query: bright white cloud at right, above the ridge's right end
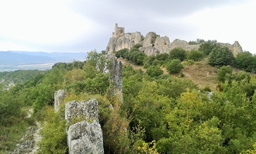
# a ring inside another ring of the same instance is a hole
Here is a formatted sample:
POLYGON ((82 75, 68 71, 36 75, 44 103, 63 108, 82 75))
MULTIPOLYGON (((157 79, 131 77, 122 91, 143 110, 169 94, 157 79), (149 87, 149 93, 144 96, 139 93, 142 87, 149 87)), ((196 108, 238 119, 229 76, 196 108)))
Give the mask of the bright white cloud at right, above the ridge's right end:
MULTIPOLYGON (((216 39, 219 42, 233 43, 239 41, 244 50, 255 50, 252 37, 256 36, 255 15, 256 2, 243 5, 205 9, 184 18, 196 27, 198 38, 216 39)), ((250 51, 254 52, 255 51, 250 51)))

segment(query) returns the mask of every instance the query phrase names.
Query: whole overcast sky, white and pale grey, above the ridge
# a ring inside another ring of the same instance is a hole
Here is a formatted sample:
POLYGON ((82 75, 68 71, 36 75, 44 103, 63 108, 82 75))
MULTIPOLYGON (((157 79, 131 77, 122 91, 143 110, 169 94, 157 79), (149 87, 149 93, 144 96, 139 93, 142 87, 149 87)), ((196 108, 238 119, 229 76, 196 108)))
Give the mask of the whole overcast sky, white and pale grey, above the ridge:
POLYGON ((217 40, 256 54, 255 0, 0 0, 0 51, 105 50, 115 23, 185 41, 217 40))

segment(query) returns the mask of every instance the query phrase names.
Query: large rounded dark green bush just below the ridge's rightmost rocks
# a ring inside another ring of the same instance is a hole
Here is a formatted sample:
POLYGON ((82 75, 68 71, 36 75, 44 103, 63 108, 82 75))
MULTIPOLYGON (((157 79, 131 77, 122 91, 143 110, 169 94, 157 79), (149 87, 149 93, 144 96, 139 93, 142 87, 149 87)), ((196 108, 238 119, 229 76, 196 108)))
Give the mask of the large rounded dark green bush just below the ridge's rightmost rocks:
POLYGON ((208 63, 212 66, 233 65, 235 58, 227 47, 216 46, 209 55, 208 63))

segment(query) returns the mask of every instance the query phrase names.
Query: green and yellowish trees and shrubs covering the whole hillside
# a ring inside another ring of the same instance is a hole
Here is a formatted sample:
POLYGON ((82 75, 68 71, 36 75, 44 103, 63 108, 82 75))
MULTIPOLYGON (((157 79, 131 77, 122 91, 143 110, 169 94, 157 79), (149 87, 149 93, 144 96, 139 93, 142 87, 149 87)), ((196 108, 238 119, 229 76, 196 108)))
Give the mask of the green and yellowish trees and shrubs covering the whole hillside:
POLYGON ((123 58, 123 103, 109 95, 106 56, 96 51, 85 62, 57 63, 1 90, 0 151, 13 150, 37 120, 43 124, 39 153, 66 153, 64 108, 54 113, 52 107, 54 92, 65 89, 65 102, 99 101, 105 153, 255 153, 255 57, 248 52, 234 57, 206 43, 209 53, 205 44, 199 51, 178 48, 150 57, 139 53, 140 45, 116 52, 123 58), (33 107, 33 117, 24 118, 24 107, 33 107))

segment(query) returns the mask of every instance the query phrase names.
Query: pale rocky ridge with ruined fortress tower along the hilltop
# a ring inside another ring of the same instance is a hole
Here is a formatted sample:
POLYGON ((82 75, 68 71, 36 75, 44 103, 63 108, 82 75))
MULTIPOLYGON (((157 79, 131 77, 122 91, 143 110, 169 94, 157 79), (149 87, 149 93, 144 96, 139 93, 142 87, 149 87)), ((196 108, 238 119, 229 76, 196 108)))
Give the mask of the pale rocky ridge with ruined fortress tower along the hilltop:
MULTIPOLYGON (((197 50, 200 46, 200 44, 191 45, 179 39, 170 42, 167 36, 161 37, 154 32, 147 33, 146 37, 142 36, 140 32, 125 33, 124 27, 118 27, 118 24, 115 24, 114 32, 108 42, 106 51, 110 54, 125 48, 131 49, 135 44, 141 44, 142 47, 139 50, 148 56, 169 53, 174 48, 182 48, 187 51, 197 50)), ((234 56, 243 52, 238 41, 235 41, 234 44, 219 42, 217 44, 228 47, 234 56)))

